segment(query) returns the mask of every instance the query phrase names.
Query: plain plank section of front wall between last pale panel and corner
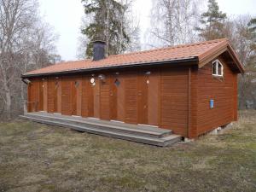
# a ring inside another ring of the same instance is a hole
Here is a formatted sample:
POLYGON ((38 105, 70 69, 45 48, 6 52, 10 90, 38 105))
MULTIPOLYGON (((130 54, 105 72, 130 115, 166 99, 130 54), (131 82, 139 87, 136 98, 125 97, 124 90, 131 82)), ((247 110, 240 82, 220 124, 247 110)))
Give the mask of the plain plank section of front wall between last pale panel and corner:
POLYGON ((160 127, 183 136, 188 129, 188 72, 188 68, 171 68, 160 75, 160 127))

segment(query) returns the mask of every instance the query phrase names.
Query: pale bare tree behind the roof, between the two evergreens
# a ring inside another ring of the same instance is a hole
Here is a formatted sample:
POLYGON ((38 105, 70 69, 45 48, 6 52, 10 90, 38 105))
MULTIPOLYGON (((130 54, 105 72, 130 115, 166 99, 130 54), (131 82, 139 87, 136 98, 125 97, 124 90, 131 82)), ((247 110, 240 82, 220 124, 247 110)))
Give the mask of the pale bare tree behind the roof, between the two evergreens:
POLYGON ((199 16, 197 0, 153 0, 148 44, 158 47, 194 42, 199 16))

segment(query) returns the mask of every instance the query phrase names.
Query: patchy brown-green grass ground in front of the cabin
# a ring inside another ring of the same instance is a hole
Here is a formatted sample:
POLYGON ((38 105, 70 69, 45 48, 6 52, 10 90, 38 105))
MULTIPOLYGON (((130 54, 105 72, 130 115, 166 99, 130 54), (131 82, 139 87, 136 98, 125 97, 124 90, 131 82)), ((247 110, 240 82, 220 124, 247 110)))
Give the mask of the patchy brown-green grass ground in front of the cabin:
POLYGON ((256 111, 158 148, 16 119, 0 124, 2 191, 255 191, 256 111))

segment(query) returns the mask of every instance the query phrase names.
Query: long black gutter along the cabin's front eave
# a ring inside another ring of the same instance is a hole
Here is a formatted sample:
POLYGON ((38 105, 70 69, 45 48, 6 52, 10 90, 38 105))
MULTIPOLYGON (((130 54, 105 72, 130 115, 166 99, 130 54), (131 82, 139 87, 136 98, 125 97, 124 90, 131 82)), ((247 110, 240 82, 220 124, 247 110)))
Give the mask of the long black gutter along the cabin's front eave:
POLYGON ((170 63, 181 63, 181 62, 196 62, 198 63, 199 58, 197 56, 194 57, 188 57, 184 59, 179 60, 169 60, 169 61, 157 61, 157 62, 137 62, 137 63, 131 63, 131 64, 123 64, 122 66, 108 66, 108 67, 96 67, 96 68, 85 68, 85 69, 78 69, 78 70, 72 70, 72 71, 63 71, 63 72, 55 72, 55 73, 37 73, 37 74, 27 74, 27 75, 21 75, 21 79, 25 78, 32 78, 32 77, 42 77, 42 76, 51 76, 51 75, 61 75, 61 74, 73 74, 73 73, 84 73, 84 72, 97 72, 102 70, 108 70, 108 69, 119 69, 119 68, 131 68, 131 67, 151 67, 155 65, 164 65, 164 64, 170 64, 170 63))

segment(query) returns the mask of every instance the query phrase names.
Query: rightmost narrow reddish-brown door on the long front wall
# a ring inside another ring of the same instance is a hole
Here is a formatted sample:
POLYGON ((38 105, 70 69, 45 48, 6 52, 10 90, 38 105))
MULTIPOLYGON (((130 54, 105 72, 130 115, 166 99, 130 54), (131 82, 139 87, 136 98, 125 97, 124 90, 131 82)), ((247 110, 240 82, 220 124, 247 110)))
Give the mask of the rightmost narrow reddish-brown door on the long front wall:
POLYGON ((137 81, 137 115, 138 124, 148 124, 148 75, 138 74, 137 81))

